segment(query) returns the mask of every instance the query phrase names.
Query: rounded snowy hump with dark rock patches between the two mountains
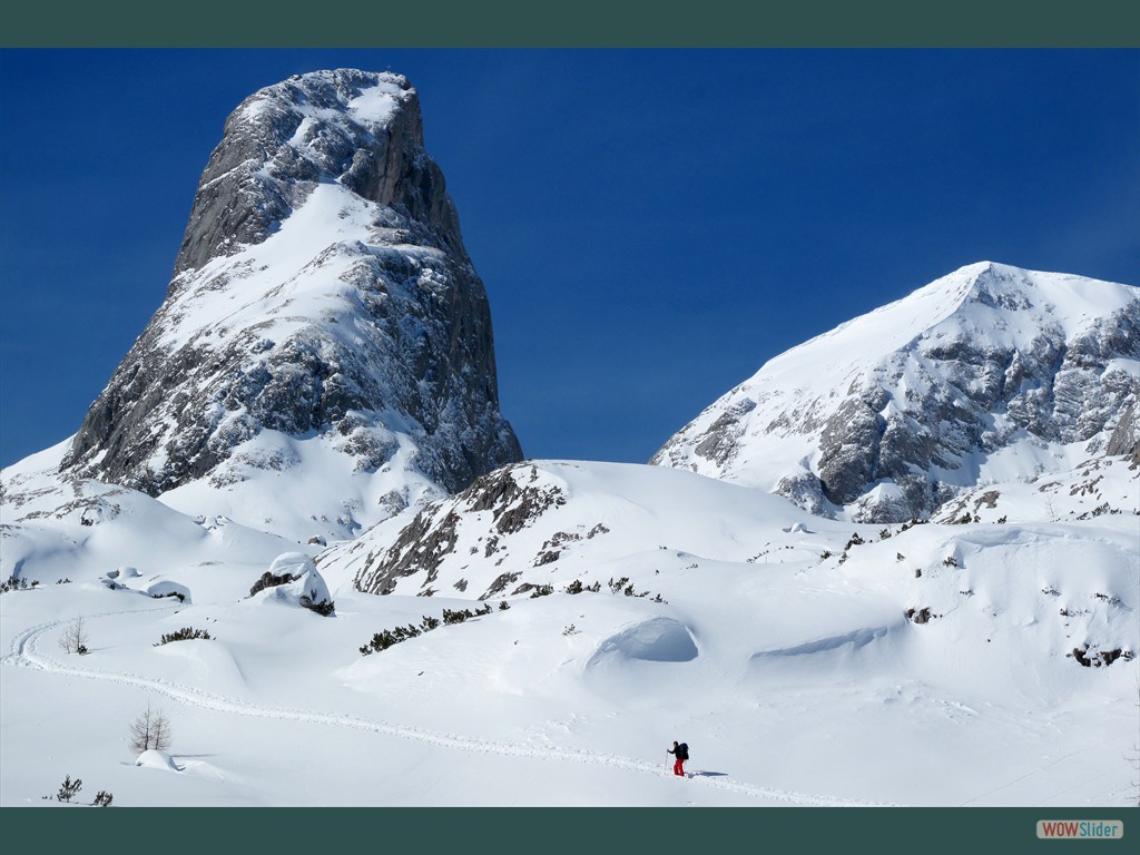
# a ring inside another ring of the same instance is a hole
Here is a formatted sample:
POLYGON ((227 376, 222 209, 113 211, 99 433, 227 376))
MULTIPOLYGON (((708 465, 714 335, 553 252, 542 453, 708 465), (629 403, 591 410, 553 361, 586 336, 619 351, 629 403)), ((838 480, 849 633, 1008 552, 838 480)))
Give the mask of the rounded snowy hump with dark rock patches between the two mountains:
MULTIPOLYGON (((814 556, 822 547, 813 545, 808 523, 839 537, 840 523, 813 519, 780 497, 689 472, 527 462, 391 518, 331 547, 318 562, 324 572, 375 594, 462 592, 491 600, 575 581, 608 591, 620 578, 612 568, 630 562, 652 568, 693 555, 746 563, 814 556)), ((649 594, 653 580, 632 581, 649 594)))

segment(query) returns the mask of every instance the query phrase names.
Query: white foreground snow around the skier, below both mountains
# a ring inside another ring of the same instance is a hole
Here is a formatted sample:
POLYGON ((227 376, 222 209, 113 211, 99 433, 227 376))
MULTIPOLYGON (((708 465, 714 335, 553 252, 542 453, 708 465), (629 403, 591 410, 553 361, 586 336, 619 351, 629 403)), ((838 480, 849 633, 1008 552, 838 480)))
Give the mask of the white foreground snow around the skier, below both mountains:
MULTIPOLYGON (((7 495, 46 490, 35 469, 6 470, 7 495)), ((6 505, 0 570, 21 562, 39 585, 0 594, 0 805, 58 805, 43 796, 65 775, 115 806, 1134 801, 1140 497, 1126 462, 991 484, 980 522, 906 530, 657 466, 532 462, 518 477, 564 504, 490 559, 470 552, 490 512, 457 510, 430 597, 416 596, 422 573, 388 596, 352 586, 416 508, 318 553, 106 484, 78 488, 120 508, 91 526, 80 508, 57 518, 49 492, 6 505), (1109 498, 1119 513, 1088 514, 1109 498), (559 531, 583 536, 535 567, 559 531), (845 548, 856 532, 864 543, 845 548), (553 593, 475 598, 507 570, 553 593), (266 571, 319 580, 334 614, 287 586, 251 596, 266 571), (611 592, 621 577, 634 595, 611 592), (565 593, 575 579, 601 589, 565 593), (57 643, 78 617, 85 656, 57 643), (182 628, 210 638, 158 643, 182 628), (1082 667, 1084 645, 1124 656, 1082 667), (129 726, 148 703, 172 741, 140 757, 129 726), (683 782, 673 740, 692 751, 683 782)))

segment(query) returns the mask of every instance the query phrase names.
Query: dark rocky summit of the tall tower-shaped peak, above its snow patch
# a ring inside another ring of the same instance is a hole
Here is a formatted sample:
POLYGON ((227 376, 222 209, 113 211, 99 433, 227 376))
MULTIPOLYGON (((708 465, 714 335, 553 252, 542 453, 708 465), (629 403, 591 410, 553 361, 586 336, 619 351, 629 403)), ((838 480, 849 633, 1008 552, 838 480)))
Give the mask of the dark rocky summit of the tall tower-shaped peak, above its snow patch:
POLYGON ((398 74, 340 68, 266 87, 230 114, 198 182, 176 274, 261 243, 320 181, 402 207, 463 253, 442 172, 423 149, 416 90, 398 74))

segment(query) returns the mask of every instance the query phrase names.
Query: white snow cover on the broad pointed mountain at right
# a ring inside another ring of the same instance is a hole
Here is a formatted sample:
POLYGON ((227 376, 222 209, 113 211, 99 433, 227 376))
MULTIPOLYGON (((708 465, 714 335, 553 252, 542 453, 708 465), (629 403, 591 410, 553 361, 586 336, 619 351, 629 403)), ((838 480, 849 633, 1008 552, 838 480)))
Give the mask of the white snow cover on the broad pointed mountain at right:
MULTIPOLYGON (((906 409, 904 402, 951 383, 946 366, 939 367, 940 357, 934 356, 938 349, 967 343, 978 351, 1007 350, 1024 358, 1042 341, 1094 335, 1107 318, 1138 301, 1140 288, 1133 285, 990 261, 969 264, 768 360, 670 439, 654 462, 775 490, 784 478, 819 474, 823 427, 858 386, 885 390, 881 415, 897 415, 906 409), (717 457, 699 451, 707 432, 730 415, 735 425, 720 440, 731 443, 730 453, 717 457)), ((1115 357, 1101 374, 1098 381, 1089 369, 1088 384, 1126 389, 1140 377, 1140 361, 1115 357)), ((963 370, 953 382, 980 380, 963 370)), ((1021 383, 1039 381, 1026 377, 1021 383)), ((1027 391, 1033 390, 1021 389, 1027 391)), ((959 404, 963 400, 959 398, 959 404)), ((1090 404, 1085 396, 1078 406, 1090 404)), ((922 414, 911 415, 921 420, 922 414)), ((964 455, 955 467, 931 470, 930 477, 951 487, 1032 478, 1047 469, 1075 465, 1090 453, 1088 441, 1047 442, 1025 431, 1017 433, 1005 409, 997 408, 992 418, 994 434, 1011 437, 986 453, 964 455)), ((947 425, 931 420, 925 427, 937 435, 947 425)), ((863 504, 865 496, 846 508, 826 510, 857 519, 863 504)))

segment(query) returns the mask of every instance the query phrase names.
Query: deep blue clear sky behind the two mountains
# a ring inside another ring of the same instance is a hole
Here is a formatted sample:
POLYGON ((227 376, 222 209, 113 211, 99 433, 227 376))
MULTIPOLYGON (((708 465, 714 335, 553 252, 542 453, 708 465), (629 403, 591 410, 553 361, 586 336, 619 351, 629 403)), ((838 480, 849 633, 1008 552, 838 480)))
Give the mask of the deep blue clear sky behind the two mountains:
POLYGON ((420 91, 529 457, 644 462, 975 261, 1140 284, 1134 50, 2 50, 0 464, 158 308, 229 112, 347 66, 420 91))

